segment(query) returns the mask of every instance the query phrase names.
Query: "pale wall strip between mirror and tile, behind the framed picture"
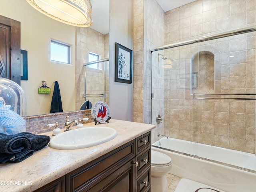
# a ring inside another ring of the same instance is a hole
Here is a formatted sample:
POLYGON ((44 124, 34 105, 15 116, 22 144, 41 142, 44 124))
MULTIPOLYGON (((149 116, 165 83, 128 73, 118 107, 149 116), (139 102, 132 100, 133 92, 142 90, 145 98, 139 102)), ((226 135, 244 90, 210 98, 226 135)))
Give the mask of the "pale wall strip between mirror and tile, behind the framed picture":
MULTIPOLYGON (((115 82, 115 43, 133 50, 133 0, 110 0, 109 106, 114 119, 133 121, 132 84, 115 82)), ((132 71, 133 72, 133 71, 132 71)))

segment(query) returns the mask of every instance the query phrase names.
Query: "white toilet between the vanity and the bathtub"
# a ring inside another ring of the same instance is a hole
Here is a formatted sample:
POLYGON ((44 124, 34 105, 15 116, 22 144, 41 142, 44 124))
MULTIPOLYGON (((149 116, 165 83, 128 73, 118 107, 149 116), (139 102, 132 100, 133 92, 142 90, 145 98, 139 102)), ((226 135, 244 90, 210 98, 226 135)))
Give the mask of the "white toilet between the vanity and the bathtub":
POLYGON ((168 192, 166 175, 172 169, 172 159, 151 149, 151 191, 168 192))

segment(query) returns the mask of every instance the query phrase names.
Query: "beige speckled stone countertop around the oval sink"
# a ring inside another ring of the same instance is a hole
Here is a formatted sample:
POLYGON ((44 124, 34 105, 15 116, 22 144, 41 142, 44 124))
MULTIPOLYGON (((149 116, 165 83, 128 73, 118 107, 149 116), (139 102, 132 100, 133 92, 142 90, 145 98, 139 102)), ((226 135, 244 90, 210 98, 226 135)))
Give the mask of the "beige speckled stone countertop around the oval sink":
POLYGON ((89 123, 84 126, 112 127, 118 135, 113 140, 84 149, 57 150, 46 146, 22 162, 0 164, 0 191, 34 191, 155 128, 151 124, 114 119, 109 123, 89 123))

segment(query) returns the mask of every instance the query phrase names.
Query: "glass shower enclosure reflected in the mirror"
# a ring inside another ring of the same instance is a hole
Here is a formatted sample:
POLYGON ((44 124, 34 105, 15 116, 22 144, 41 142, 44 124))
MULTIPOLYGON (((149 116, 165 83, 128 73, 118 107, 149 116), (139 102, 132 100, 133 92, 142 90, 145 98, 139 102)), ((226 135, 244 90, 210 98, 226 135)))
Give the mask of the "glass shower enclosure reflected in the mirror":
POLYGON ((97 101, 109 104, 109 58, 84 64, 84 94, 85 101, 92 105, 97 101))

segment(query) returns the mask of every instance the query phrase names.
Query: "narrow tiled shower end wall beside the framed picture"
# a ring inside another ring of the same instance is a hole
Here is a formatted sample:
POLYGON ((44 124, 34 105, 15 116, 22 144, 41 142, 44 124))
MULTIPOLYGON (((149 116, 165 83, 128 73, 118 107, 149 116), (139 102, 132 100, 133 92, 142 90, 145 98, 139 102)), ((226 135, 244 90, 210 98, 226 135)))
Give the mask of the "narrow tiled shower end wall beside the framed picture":
MULTIPOLYGON (((150 123, 149 49, 163 44, 164 11, 155 0, 134 0, 134 122, 150 123)), ((158 60, 158 57, 154 60, 158 60)), ((154 114, 164 114, 164 71, 161 70, 156 75, 155 87, 158 94, 154 98, 160 105, 154 114), (162 84, 160 87, 159 82, 162 84)), ((156 124, 156 119, 152 122, 156 124)), ((163 124, 157 125, 152 131, 153 142, 158 139, 158 132, 164 133, 163 124)))

